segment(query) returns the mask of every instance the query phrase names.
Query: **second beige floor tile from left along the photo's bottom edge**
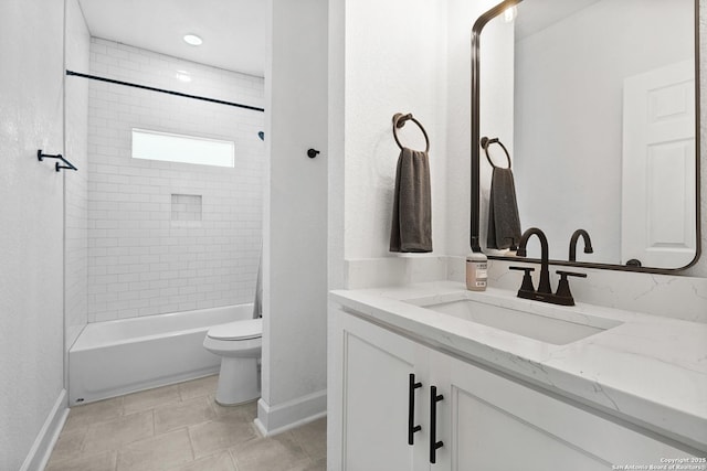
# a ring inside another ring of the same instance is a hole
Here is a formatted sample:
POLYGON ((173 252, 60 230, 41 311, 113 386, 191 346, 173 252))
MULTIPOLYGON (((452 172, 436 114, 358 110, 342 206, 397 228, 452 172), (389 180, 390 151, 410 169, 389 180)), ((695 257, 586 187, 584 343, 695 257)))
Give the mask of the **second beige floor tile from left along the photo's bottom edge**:
POLYGON ((118 450, 117 471, 160 471, 193 461, 186 428, 135 441, 118 450))

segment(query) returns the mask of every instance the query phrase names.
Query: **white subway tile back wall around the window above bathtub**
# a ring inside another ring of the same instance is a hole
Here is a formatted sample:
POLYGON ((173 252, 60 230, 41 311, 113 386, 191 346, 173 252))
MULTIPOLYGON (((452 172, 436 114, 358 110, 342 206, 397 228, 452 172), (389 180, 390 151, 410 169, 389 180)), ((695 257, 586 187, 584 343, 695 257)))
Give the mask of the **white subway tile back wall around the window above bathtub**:
MULTIPOLYGON (((82 71, 76 71, 82 72, 82 71)), ((91 73, 262 107, 263 78, 92 39, 91 73), (176 76, 187 71, 192 82, 176 76)), ((252 302, 262 234, 262 113, 89 82, 88 321, 252 302), (137 160, 130 130, 235 142, 235 168, 137 160), (177 196, 178 206, 173 206, 177 196), (200 200, 201 221, 192 204, 200 200), (172 224, 175 207, 192 224, 172 224)))

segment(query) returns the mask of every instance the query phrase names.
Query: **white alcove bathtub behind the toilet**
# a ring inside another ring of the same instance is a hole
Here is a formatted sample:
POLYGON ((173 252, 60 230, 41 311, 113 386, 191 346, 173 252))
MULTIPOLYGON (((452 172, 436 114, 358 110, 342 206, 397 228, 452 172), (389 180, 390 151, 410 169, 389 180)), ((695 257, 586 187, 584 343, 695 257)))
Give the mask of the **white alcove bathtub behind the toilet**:
POLYGON ((70 405, 218 373, 211 325, 250 319, 253 304, 89 323, 68 350, 70 405))

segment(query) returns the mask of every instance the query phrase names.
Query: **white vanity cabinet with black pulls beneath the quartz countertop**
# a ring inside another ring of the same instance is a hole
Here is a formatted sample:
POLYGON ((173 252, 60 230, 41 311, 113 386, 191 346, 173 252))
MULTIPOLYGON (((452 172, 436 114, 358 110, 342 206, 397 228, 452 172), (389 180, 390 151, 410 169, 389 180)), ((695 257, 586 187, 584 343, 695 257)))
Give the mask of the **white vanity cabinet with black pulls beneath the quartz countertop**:
POLYGON ((333 471, 605 471, 689 456, 658 436, 336 308, 328 406, 333 471), (433 386, 442 396, 434 406, 433 386), (413 445, 410 425, 420 426, 413 445), (431 442, 443 443, 434 463, 431 442))

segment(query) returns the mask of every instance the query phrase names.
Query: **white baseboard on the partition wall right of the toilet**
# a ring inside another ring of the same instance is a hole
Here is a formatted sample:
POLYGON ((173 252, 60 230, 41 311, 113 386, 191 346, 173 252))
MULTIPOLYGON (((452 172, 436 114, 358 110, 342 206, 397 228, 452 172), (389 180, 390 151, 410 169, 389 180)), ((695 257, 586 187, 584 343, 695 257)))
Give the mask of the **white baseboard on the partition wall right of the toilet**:
POLYGON ((268 405, 261 398, 257 402, 255 426, 263 437, 270 437, 317 420, 326 415, 326 389, 275 406, 268 405))

